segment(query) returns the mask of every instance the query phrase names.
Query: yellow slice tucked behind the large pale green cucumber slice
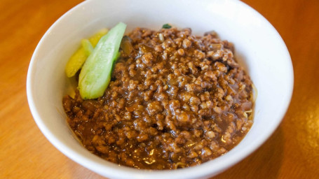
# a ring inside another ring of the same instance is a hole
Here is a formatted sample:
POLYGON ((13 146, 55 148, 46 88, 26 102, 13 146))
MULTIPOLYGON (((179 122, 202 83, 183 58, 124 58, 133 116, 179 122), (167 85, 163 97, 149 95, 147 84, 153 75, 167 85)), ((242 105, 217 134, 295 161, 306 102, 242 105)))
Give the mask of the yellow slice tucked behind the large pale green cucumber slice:
MULTIPOLYGON (((95 47, 98 41, 100 41, 100 38, 107 34, 108 29, 101 29, 100 31, 97 31, 93 36, 88 38, 88 41, 92 44, 91 46, 95 47)), ((90 52, 88 52, 88 42, 85 42, 79 50, 76 50, 76 52, 72 55, 72 57, 67 62, 67 65, 65 66, 65 73, 67 74, 67 77, 71 78, 76 74, 79 69, 83 66, 84 62, 86 62, 86 59, 88 58, 88 55, 90 52), (86 47, 85 47, 86 46, 86 47)))

